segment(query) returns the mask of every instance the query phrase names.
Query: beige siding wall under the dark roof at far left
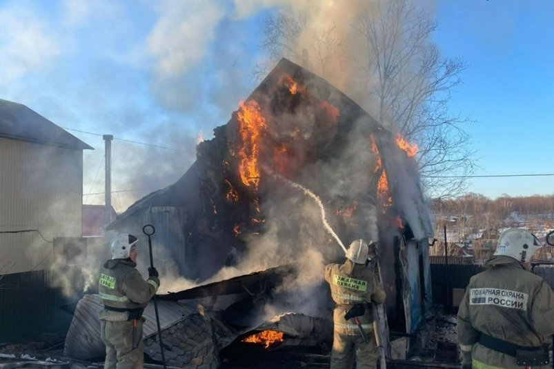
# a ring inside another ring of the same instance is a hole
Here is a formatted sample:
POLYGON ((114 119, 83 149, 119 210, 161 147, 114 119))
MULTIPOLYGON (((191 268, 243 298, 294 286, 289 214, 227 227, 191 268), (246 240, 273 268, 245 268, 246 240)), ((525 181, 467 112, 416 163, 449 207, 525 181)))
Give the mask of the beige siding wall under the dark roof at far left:
POLYGON ((83 152, 0 138, 0 173, 0 232, 40 232, 0 233, 0 275, 48 269, 54 237, 81 236, 83 152))

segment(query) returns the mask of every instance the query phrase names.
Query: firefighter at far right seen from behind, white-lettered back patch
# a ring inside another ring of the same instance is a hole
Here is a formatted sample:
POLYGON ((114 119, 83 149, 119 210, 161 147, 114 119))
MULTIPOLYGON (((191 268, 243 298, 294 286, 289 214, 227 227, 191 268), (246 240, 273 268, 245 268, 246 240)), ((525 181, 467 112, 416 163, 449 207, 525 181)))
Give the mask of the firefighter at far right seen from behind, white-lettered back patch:
POLYGON ((554 293, 528 270, 540 246, 531 232, 508 228, 487 270, 471 277, 457 315, 462 368, 550 368, 542 344, 554 334, 554 293))

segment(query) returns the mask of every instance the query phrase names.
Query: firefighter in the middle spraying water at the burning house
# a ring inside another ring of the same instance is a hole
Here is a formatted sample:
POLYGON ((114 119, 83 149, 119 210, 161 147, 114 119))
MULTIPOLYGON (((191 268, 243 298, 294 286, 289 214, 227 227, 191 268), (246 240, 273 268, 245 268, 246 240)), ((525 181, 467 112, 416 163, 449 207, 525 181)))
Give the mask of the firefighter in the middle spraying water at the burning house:
POLYGON ((368 244, 357 239, 350 244, 344 264, 328 264, 325 280, 335 301, 333 350, 331 368, 377 367, 377 347, 369 303, 382 303, 385 292, 379 287, 373 272, 366 268, 368 244), (350 309, 362 308, 362 315, 345 319, 350 309))

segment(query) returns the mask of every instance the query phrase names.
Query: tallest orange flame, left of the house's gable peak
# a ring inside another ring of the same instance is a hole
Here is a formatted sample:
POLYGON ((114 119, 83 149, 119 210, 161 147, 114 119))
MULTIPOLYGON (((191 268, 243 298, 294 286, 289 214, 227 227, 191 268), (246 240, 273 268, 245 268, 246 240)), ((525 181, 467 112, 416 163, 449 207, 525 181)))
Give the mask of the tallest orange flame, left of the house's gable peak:
POLYGON ((261 115, 259 105, 255 100, 250 99, 239 105, 237 117, 242 139, 242 147, 239 149, 239 173, 242 183, 246 186, 253 185, 257 190, 260 175, 258 168, 259 136, 266 128, 266 120, 261 115))

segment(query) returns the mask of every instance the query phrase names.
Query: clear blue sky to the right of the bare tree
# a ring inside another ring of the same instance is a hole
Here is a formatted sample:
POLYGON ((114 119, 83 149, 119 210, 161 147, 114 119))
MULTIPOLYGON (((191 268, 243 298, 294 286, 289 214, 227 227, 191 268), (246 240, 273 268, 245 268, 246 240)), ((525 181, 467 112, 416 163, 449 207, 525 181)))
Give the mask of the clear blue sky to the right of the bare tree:
MULTIPOLYGON (((439 1, 435 42, 467 69, 451 110, 475 121, 466 131, 475 174, 554 173, 553 1, 439 1)), ((471 192, 497 197, 552 195, 554 177, 471 179, 471 192)))

